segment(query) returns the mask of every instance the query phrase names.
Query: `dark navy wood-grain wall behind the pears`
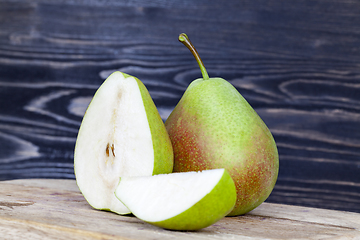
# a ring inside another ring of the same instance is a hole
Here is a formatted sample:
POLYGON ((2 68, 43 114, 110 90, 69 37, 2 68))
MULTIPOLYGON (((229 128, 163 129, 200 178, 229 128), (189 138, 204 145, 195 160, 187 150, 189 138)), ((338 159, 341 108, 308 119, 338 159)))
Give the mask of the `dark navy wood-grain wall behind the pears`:
POLYGON ((74 178, 85 108, 115 70, 165 120, 201 77, 181 32, 272 131, 267 201, 360 212, 357 0, 0 0, 0 180, 74 178))

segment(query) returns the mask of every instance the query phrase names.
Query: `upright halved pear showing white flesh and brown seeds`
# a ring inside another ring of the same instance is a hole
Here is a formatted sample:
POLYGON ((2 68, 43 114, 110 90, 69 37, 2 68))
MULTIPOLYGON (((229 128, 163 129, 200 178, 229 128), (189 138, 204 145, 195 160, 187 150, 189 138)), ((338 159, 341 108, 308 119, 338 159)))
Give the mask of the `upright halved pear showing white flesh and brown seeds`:
POLYGON ((95 209, 128 214, 115 196, 122 176, 171 173, 173 151, 144 84, 112 73, 96 91, 81 122, 74 151, 77 185, 95 209))

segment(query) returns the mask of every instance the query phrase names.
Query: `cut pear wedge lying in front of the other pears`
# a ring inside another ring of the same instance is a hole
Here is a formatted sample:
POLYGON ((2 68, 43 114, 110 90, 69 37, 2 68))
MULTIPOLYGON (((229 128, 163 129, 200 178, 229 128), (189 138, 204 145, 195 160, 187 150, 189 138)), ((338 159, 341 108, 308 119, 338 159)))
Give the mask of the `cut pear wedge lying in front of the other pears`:
POLYGON ((226 216, 236 202, 225 169, 122 177, 115 195, 139 219, 172 230, 198 230, 226 216))

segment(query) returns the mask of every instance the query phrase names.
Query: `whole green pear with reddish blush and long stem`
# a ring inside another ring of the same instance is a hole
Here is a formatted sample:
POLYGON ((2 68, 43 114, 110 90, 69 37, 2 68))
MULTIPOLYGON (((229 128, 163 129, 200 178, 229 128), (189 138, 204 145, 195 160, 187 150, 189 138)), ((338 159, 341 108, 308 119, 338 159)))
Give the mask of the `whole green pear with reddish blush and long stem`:
POLYGON ((174 150, 174 172, 225 168, 237 189, 228 216, 245 214, 272 192, 279 171, 274 138, 237 89, 222 78, 209 78, 186 34, 180 42, 193 53, 203 78, 188 86, 165 121, 174 150))

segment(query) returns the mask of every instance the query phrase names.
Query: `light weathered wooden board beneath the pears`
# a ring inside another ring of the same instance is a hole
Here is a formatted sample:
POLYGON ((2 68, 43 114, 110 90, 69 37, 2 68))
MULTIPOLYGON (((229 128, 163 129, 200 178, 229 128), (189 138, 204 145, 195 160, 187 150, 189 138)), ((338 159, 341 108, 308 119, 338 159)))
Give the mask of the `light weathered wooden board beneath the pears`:
POLYGON ((205 229, 168 231, 91 208, 74 180, 0 182, 5 239, 356 239, 360 214, 264 203, 205 229))

